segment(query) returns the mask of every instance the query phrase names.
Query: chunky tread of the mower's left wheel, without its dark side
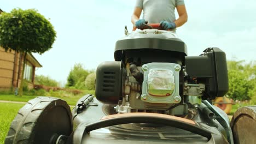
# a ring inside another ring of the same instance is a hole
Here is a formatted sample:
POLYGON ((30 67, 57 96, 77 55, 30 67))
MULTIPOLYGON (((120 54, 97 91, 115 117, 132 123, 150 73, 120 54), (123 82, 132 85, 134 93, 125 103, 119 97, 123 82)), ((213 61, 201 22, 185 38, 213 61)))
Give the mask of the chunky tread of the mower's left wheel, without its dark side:
POLYGON ((11 123, 4 143, 33 143, 31 142, 30 137, 40 113, 42 113, 45 107, 52 101, 55 101, 56 103, 58 100, 61 99, 53 97, 36 97, 29 100, 25 106, 19 110, 11 123), (37 115, 34 114, 34 111, 37 111, 37 115), (29 127, 26 127, 28 125, 29 127))

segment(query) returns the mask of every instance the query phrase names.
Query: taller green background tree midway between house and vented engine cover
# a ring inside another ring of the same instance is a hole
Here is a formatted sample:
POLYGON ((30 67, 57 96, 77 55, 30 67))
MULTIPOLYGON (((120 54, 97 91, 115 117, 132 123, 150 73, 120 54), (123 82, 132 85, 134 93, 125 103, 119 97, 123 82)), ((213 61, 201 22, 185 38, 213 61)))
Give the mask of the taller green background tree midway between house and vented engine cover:
POLYGON ((73 69, 69 72, 67 77, 66 87, 74 87, 77 89, 84 89, 84 81, 88 76, 89 71, 83 68, 83 64, 75 64, 73 69))

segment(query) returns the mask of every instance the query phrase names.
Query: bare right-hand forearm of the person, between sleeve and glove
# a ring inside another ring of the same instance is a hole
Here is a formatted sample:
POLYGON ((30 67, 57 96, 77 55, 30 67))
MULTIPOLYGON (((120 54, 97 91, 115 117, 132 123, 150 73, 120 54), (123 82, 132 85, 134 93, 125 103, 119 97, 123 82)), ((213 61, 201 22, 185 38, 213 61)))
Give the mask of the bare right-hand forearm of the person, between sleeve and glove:
POLYGON ((179 14, 179 18, 174 21, 174 23, 176 24, 176 27, 180 27, 182 26, 185 22, 188 21, 188 14, 187 14, 187 10, 185 5, 177 5, 177 11, 179 14))

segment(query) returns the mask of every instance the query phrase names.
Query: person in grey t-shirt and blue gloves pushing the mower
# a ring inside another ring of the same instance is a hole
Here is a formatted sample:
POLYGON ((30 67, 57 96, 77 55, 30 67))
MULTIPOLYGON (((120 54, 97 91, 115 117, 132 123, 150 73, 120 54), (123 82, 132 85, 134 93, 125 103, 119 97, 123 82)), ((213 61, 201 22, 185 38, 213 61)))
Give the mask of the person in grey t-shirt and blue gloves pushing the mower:
POLYGON ((176 32, 176 28, 182 26, 188 20, 184 0, 136 0, 135 9, 131 21, 139 29, 147 23, 160 23, 160 27, 166 31, 176 32), (177 9, 178 19, 174 10, 177 9), (139 19, 143 10, 143 18, 139 19))

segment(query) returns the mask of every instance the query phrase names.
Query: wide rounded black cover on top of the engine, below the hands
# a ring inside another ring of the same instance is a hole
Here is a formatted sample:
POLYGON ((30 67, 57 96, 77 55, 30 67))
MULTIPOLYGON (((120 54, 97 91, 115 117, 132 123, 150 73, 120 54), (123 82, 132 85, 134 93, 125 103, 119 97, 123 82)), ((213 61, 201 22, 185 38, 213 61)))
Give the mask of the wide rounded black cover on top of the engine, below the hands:
MULTIPOLYGON (((155 34, 155 37, 156 36, 159 35, 155 34)), ((143 35, 142 38, 128 37, 118 40, 117 43, 115 43, 115 61, 121 61, 123 57, 127 57, 127 54, 129 55, 129 52, 133 55, 139 53, 141 57, 151 55, 150 59, 156 59, 156 61, 161 61, 159 58, 164 57, 165 53, 177 53, 176 55, 182 57, 187 56, 187 45, 181 39, 144 37, 146 37, 146 35, 143 35)), ((167 57, 167 59, 168 58, 171 58, 171 56, 167 57)), ((155 60, 151 61, 153 62, 155 60)))

